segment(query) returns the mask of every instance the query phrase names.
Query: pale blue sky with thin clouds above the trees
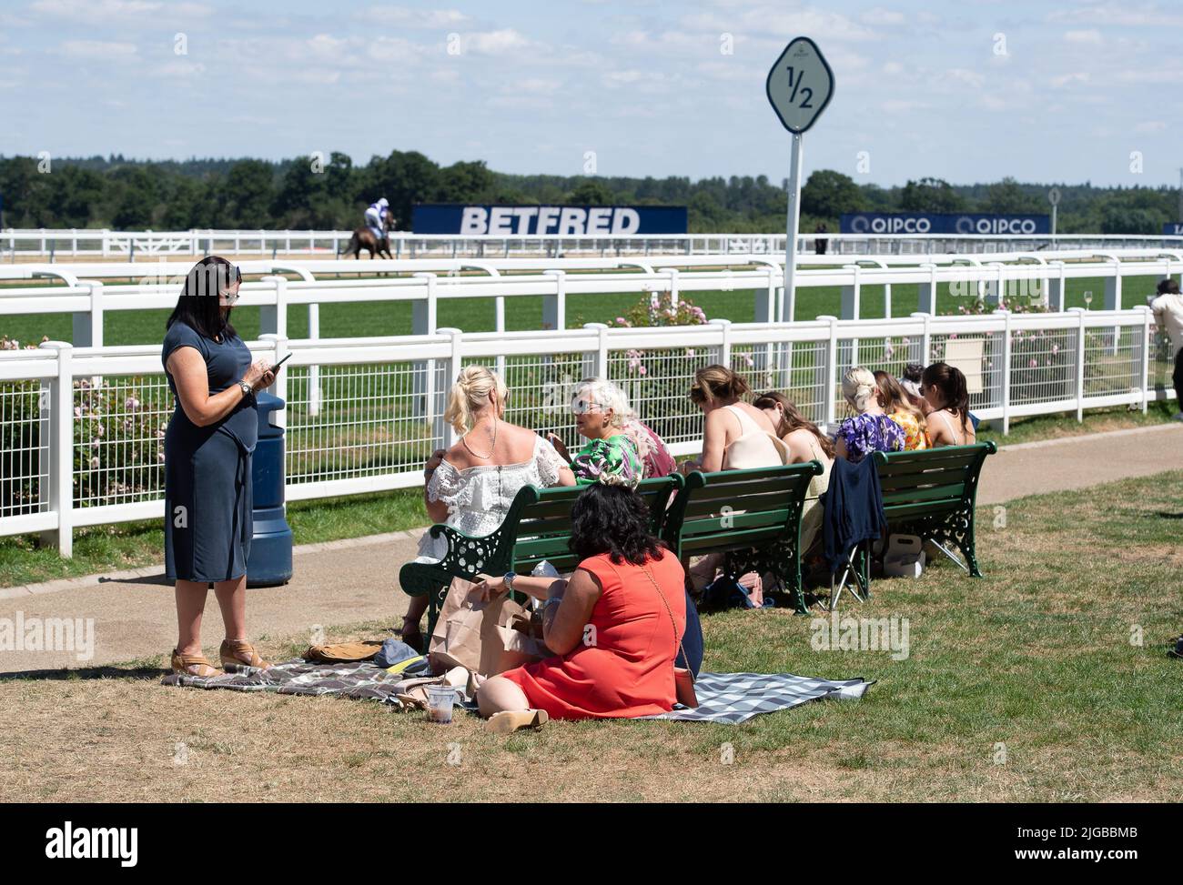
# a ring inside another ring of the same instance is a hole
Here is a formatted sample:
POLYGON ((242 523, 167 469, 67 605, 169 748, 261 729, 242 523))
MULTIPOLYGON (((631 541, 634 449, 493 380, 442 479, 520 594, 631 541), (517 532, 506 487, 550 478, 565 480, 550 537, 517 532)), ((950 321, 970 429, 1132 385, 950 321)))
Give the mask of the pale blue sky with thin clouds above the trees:
POLYGON ((780 180, 799 34, 836 78, 807 173, 1178 182, 1183 4, 1139 0, 0 0, 0 153, 780 180))

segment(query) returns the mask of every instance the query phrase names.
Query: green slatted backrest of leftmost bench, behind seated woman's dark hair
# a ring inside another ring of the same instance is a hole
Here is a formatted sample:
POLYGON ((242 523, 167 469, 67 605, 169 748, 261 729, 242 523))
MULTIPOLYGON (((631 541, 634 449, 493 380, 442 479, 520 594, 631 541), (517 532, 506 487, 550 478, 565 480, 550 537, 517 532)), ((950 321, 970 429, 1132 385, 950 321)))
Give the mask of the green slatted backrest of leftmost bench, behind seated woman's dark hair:
MULTIPOLYGON (((636 492, 649 508, 652 531, 658 537, 666 519, 666 505, 681 486, 678 474, 658 479, 644 479, 636 492)), ((577 564, 568 542, 571 538, 571 506, 587 486, 564 489, 536 489, 525 486, 518 491, 513 505, 503 525, 509 529, 510 519, 517 511, 517 528, 511 529, 512 569, 526 575, 543 560, 560 571, 570 571, 577 564)))

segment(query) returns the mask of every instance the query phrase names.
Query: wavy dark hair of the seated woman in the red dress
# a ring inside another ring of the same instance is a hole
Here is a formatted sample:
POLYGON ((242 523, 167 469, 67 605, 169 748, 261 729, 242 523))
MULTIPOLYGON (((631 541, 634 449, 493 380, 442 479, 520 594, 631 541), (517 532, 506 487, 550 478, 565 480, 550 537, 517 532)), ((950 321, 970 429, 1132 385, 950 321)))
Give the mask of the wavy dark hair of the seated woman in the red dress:
POLYGON ((618 566, 641 566, 661 555, 661 542, 649 534, 645 499, 622 485, 594 483, 571 506, 573 554, 586 560, 608 554, 618 566))

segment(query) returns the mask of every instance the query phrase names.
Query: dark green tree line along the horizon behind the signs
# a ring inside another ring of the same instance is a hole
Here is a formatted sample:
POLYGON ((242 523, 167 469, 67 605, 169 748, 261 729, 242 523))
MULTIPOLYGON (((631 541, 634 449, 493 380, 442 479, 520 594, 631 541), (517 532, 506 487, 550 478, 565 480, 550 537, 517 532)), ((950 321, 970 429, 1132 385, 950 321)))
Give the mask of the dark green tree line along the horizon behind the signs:
MULTIPOLYGON (((418 151, 392 151, 355 166, 342 153, 265 160, 168 161, 0 156, 6 227, 347 230, 386 196, 400 230, 420 202, 677 205, 690 230, 772 232, 784 228, 786 181, 767 175, 689 177, 510 175, 483 161, 440 166, 418 151)), ((814 172, 801 192, 802 231, 838 231, 845 212, 1048 213, 1060 192, 1060 233, 1158 234, 1179 221, 1170 187, 1036 185, 1003 179, 951 185, 919 179, 904 186, 860 185, 832 169, 814 172)))

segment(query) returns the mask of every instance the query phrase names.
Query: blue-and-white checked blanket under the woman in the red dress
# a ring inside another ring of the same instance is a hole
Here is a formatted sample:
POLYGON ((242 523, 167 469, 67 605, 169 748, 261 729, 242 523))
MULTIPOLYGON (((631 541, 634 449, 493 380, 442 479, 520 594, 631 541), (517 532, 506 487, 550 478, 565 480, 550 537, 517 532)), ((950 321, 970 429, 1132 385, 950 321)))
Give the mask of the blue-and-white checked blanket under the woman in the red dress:
POLYGON ((675 706, 667 713, 642 718, 738 725, 752 716, 788 710, 808 700, 858 700, 871 684, 865 679, 830 681, 793 673, 699 673, 694 681, 698 706, 675 706))

